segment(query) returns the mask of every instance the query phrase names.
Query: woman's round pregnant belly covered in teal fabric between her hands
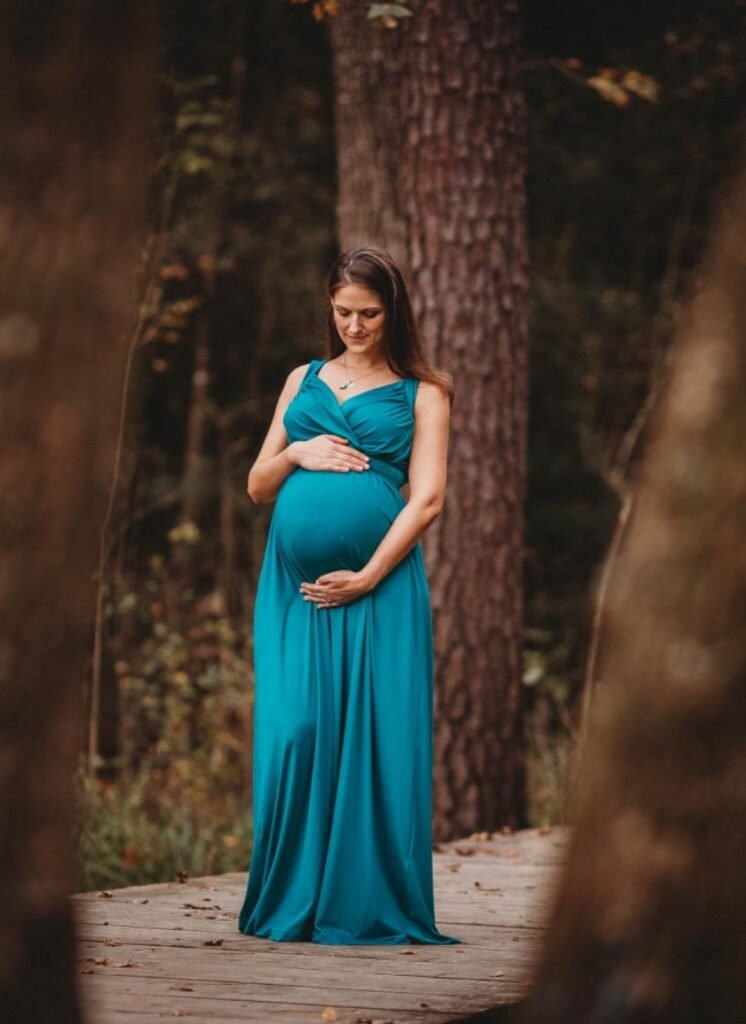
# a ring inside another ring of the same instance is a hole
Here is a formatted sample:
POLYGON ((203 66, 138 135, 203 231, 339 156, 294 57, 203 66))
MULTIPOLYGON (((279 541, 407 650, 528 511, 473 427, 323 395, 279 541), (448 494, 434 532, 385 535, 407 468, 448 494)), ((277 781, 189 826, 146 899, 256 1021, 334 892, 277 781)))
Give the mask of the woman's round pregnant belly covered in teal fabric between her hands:
POLYGON ((299 584, 335 569, 361 569, 404 505, 372 469, 336 473, 298 468, 272 511, 274 541, 299 584))

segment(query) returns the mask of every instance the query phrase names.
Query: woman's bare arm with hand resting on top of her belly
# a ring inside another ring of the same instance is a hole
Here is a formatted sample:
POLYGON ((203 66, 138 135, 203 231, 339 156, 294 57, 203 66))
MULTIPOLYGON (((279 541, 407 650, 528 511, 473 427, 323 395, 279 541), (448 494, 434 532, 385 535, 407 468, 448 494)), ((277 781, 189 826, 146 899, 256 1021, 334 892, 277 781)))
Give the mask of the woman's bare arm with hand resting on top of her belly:
POLYGON ((367 468, 367 456, 350 447, 349 440, 337 434, 318 434, 307 441, 288 443, 282 417, 307 368, 308 364, 292 370, 279 393, 267 435, 249 470, 247 492, 253 502, 273 502, 283 481, 297 466, 336 472, 367 468))

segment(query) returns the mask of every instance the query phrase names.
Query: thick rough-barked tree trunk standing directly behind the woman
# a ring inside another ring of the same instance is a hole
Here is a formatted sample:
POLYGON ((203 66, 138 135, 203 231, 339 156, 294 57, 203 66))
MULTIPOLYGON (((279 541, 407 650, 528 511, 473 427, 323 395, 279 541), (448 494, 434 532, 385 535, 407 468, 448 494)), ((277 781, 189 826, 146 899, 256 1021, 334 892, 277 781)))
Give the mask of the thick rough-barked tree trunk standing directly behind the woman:
POLYGON ((387 248, 456 383, 449 483, 426 535, 435 834, 524 820, 525 111, 514 0, 423 0, 395 30, 333 19, 342 248, 387 248))

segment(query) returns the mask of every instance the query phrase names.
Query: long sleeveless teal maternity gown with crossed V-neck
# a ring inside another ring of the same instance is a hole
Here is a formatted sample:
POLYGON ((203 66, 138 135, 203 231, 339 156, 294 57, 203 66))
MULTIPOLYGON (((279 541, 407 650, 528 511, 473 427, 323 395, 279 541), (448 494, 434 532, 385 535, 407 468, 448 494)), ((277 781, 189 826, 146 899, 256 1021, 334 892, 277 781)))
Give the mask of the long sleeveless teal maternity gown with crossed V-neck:
POLYGON ((300 585, 359 569, 404 506, 418 381, 339 403, 311 360, 293 440, 347 437, 370 469, 296 468, 277 495, 254 612, 254 847, 238 929, 341 945, 460 942, 435 925, 433 634, 420 544, 367 594, 300 585))

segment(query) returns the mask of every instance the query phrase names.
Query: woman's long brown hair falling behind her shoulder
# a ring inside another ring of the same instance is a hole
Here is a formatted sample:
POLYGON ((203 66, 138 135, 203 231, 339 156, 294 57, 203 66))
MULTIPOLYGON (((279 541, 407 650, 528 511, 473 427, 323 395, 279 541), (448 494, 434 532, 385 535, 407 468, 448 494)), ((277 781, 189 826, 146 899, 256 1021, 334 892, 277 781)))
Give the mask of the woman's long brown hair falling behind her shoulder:
MULTIPOLYGON (((375 292, 384 305, 384 352, 393 373, 430 381, 447 392, 453 400, 450 374, 432 367, 425 355, 425 345, 409 301, 406 282, 393 258, 384 249, 357 246, 342 253, 334 262, 327 280, 330 299, 343 285, 362 285, 375 292)), ((335 325, 330 302, 326 319, 328 358, 341 355, 345 346, 335 325)))

